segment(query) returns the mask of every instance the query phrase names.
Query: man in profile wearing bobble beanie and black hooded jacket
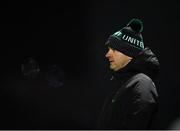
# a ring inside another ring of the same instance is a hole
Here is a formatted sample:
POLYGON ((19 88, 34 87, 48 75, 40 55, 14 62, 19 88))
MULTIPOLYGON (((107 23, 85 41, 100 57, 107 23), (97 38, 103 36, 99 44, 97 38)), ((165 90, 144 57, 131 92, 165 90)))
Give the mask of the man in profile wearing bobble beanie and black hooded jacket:
POLYGON ((142 21, 132 19, 106 42, 109 49, 106 57, 117 83, 104 103, 98 129, 151 129, 158 104, 153 81, 159 72, 159 62, 144 47, 142 30, 142 21))

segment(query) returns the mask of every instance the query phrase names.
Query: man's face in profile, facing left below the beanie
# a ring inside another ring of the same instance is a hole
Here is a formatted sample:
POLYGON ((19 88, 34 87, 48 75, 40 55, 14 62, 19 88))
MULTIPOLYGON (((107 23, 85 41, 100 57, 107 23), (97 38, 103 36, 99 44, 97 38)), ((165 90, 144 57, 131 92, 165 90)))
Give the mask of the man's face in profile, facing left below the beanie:
POLYGON ((132 57, 129 57, 115 49, 112 49, 111 47, 109 47, 109 50, 106 53, 106 57, 110 62, 110 69, 114 71, 122 69, 132 60, 132 57))

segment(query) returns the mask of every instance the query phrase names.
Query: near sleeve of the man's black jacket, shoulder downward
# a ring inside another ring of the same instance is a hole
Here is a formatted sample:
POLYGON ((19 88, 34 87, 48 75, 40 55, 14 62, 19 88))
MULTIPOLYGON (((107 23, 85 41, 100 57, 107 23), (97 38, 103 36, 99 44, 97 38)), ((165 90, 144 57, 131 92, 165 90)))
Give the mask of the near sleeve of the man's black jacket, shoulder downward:
POLYGON ((156 107, 156 90, 152 81, 133 80, 121 100, 121 129, 148 129, 156 107))

